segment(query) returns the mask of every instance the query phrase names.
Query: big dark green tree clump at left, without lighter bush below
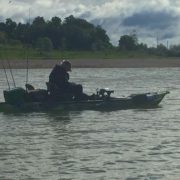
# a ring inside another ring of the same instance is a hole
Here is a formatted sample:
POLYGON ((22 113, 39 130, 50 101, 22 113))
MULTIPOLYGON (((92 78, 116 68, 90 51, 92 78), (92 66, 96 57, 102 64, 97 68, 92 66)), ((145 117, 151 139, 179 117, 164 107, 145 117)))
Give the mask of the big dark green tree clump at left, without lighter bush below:
POLYGON ((22 44, 31 44, 33 47, 44 37, 49 38, 54 49, 102 50, 112 47, 105 30, 72 15, 65 18, 64 22, 59 17, 45 21, 38 16, 32 24, 16 24, 7 19, 5 23, 0 23, 0 31, 11 40, 19 40, 22 44))

